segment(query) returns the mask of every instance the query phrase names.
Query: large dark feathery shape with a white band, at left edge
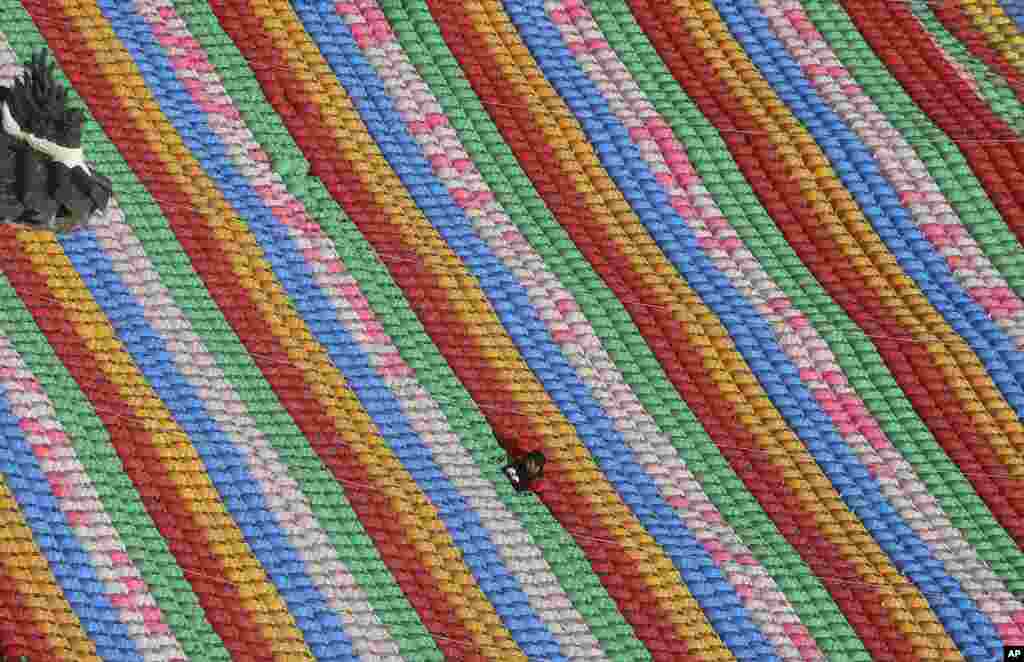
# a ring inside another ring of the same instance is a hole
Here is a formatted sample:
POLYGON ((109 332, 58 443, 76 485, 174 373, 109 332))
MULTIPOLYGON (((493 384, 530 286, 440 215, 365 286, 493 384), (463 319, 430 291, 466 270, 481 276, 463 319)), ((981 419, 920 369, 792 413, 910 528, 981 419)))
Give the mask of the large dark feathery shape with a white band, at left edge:
POLYGON ((111 180, 82 153, 85 115, 68 107, 46 50, 0 87, 0 222, 63 233, 110 202, 111 180))

